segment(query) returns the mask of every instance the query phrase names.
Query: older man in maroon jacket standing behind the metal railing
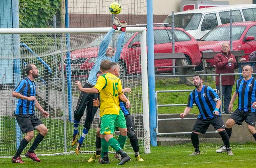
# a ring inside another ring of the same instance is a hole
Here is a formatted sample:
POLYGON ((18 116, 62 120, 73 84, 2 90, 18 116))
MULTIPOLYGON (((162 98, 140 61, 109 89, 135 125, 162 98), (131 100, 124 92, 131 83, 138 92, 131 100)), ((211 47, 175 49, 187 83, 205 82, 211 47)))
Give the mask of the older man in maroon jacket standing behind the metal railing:
MULTIPOLYGON (((221 51, 219 54, 214 57, 215 65, 216 65, 216 74, 231 74, 234 73, 234 70, 237 65, 236 58, 229 51, 229 44, 223 43, 221 47, 221 51)), ((241 61, 245 61, 245 58, 242 58, 241 61)), ((232 88, 234 85, 235 76, 221 76, 221 86, 222 86, 222 107, 224 107, 223 112, 226 114, 230 114, 228 112, 228 106, 231 99, 232 88)), ((216 89, 220 90, 220 77, 216 76, 216 89)))

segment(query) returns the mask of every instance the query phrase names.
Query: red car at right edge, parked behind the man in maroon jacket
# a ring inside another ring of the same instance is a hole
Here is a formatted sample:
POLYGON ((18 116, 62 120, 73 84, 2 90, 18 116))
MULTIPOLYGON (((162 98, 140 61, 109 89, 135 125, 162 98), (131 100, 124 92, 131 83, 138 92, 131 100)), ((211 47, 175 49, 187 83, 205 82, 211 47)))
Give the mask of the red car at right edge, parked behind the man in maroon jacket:
MULTIPOLYGON (((249 55, 256 50, 256 21, 235 22, 233 29, 233 50, 244 50, 243 58, 249 61, 249 55)), ((204 35, 199 41, 200 52, 220 51, 222 43, 230 44, 230 24, 215 27, 204 35)), ((209 64, 215 65, 214 60, 207 60, 209 64)))

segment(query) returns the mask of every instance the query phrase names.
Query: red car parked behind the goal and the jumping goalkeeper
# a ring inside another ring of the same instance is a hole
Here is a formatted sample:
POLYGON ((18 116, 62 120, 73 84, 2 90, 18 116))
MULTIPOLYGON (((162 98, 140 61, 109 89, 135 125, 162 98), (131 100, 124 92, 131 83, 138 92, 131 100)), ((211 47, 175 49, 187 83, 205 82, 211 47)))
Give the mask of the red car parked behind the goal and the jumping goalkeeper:
MULTIPOLYGON (((175 28, 175 52, 182 52, 186 56, 184 60, 188 65, 199 65, 201 55, 197 41, 184 29, 175 28)), ((114 33, 113 42, 110 46, 116 48, 116 40, 119 33, 114 33)), ((71 52, 72 77, 87 76, 97 59, 100 43, 104 35, 93 40, 89 47, 71 52)), ((171 27, 154 27, 154 50, 155 53, 172 53, 171 27)), ((119 65, 121 75, 136 74, 141 72, 140 67, 140 33, 126 33, 124 48, 120 56, 119 65)), ((64 64, 65 66, 65 64, 64 64)), ((172 60, 155 60, 155 66, 172 66, 172 60)), ((65 68, 65 67, 64 67, 65 68)), ((158 68, 157 73, 170 72, 171 68, 158 68)))

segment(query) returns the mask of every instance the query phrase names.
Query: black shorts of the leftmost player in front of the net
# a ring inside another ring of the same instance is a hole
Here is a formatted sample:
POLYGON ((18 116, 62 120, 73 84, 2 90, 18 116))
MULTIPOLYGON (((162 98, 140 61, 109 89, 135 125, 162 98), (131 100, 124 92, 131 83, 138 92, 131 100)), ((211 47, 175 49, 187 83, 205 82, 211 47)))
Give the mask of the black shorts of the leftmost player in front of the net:
POLYGON ((42 121, 34 114, 15 114, 15 118, 23 134, 33 131, 36 126, 42 124, 42 121))

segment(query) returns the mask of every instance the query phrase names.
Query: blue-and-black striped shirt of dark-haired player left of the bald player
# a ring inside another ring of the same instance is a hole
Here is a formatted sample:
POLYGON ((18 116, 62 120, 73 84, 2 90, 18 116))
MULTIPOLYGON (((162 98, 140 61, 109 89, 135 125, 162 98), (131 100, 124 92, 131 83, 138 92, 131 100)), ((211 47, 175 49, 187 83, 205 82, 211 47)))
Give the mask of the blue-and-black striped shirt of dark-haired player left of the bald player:
POLYGON ((193 107, 195 103, 199 109, 198 119, 210 120, 215 116, 213 112, 218 100, 220 100, 218 94, 210 86, 203 85, 200 92, 197 92, 195 89, 189 94, 187 107, 193 107))

